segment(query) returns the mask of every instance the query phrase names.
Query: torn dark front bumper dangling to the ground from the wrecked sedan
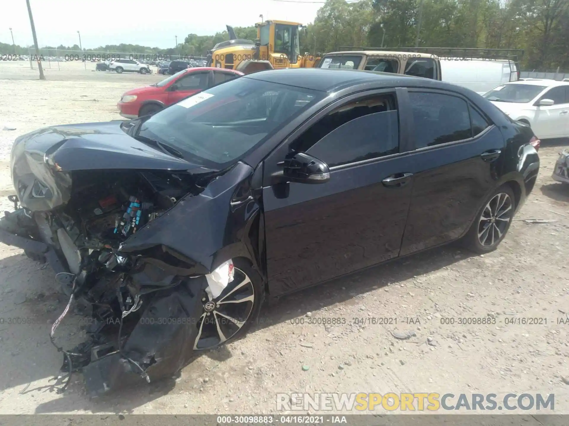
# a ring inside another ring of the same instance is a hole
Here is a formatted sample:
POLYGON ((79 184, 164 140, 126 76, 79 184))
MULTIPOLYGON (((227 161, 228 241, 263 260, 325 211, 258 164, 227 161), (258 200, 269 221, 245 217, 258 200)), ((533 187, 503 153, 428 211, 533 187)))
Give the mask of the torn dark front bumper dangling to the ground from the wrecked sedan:
MULTIPOLYGON (((71 277, 58 280, 65 293, 71 296, 71 282, 74 279, 67 265, 60 261, 50 245, 23 236, 34 235, 34 226, 34 219, 24 209, 6 212, 0 220, 0 242, 23 249, 35 260, 48 261, 56 274, 64 273, 65 277, 71 277)), ((121 281, 118 278, 117 283, 121 281)), ((122 288, 124 282, 122 278, 122 282, 116 286, 117 297, 125 293, 122 288)), ((73 371, 83 371, 90 396, 102 395, 143 380, 151 382, 171 377, 191 360, 207 288, 207 278, 201 275, 185 278, 176 286, 165 286, 151 294, 148 289, 145 290, 146 294, 141 289, 141 303, 136 303, 137 294, 134 303, 137 307, 128 311, 122 308, 120 296, 118 303, 122 312, 118 314, 117 310, 101 310, 96 309, 95 305, 91 306, 88 299, 92 296, 90 293, 96 291, 94 287, 88 294, 75 291, 74 295, 83 307, 92 309, 92 321, 89 321, 86 329, 89 339, 69 352, 62 351, 64 362, 60 377, 71 375, 73 371), (137 310, 139 312, 135 312, 137 310), (123 328, 123 321, 128 323, 126 329, 123 328)), ((52 337, 65 312, 55 321, 52 337)))

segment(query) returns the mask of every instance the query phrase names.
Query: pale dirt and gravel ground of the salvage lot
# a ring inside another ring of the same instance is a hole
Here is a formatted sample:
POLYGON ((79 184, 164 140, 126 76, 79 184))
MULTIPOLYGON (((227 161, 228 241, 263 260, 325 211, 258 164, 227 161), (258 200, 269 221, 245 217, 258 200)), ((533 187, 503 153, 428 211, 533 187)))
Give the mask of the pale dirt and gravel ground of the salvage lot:
MULTIPOLYGON (((48 80, 38 81, 28 62, 0 64, 0 195, 6 209, 4 196, 12 193, 7 157, 17 135, 50 124, 119 119, 116 102, 123 91, 159 80, 155 74, 73 66, 58 71, 52 64, 48 80)), ((550 178, 562 145, 542 145, 537 185, 495 252, 433 249, 288 296, 262 311, 246 339, 203 354, 179 378, 120 398, 89 400, 80 375, 64 395, 52 389, 49 380, 62 358, 48 329, 67 300, 57 293, 49 267, 0 244, 0 413, 261 414, 275 412, 277 392, 391 391, 554 392, 555 412, 567 414, 569 385, 562 377, 569 383, 569 325, 557 319, 569 311, 569 190, 550 178), (489 315, 496 324, 441 323, 489 315), (357 320, 375 317, 398 323, 357 320), (505 318, 527 317, 546 318, 547 324, 504 324, 505 318), (9 318, 33 325, 9 324, 9 318), (346 322, 295 324, 308 318, 346 322), (420 324, 408 325, 406 318, 420 324), (416 336, 406 341, 390 334, 409 329, 416 336)), ((80 318, 72 316, 58 329, 67 348, 81 340, 77 325, 80 318)))

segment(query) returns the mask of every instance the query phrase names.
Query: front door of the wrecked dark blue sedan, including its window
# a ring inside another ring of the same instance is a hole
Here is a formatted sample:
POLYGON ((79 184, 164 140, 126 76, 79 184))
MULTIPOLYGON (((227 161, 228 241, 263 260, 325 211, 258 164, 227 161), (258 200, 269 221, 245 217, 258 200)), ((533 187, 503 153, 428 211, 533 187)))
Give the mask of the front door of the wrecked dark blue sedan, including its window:
POLYGON ((289 150, 311 154, 331 168, 329 181, 318 185, 263 187, 271 294, 398 256, 411 199, 399 135, 395 91, 359 95, 339 102, 266 158, 265 182, 289 150))

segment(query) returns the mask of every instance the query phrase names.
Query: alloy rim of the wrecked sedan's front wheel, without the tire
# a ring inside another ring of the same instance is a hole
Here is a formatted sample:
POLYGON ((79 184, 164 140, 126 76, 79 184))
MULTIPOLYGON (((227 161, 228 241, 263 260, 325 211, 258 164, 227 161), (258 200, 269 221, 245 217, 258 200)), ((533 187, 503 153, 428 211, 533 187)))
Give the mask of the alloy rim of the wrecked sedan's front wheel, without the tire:
POLYGON ((245 325, 255 302, 255 289, 248 275, 234 268, 233 281, 213 300, 202 299, 204 312, 197 320, 194 350, 211 349, 231 339, 245 325))

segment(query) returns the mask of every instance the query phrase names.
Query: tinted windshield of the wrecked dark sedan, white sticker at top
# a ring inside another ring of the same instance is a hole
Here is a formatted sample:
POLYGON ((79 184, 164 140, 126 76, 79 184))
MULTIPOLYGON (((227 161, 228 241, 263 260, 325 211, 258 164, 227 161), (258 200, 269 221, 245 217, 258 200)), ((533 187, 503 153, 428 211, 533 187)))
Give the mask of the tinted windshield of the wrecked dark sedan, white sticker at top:
POLYGON ((188 161, 221 169, 324 96, 320 91, 237 78, 152 115, 138 135, 179 149, 188 161))

